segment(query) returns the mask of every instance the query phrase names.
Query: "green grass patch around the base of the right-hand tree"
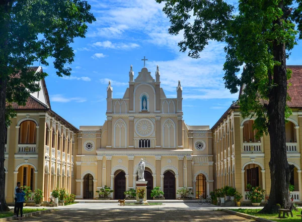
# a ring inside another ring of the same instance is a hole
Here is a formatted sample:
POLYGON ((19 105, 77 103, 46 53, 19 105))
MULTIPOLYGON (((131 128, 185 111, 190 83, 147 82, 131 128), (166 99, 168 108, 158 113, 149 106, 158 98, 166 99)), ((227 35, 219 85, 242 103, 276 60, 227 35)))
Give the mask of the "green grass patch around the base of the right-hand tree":
MULTIPOLYGON (((258 217, 262 217, 262 218, 265 218, 265 219, 270 219, 270 220, 273 220, 273 221, 290 221, 290 222, 298 222, 299 221, 300 222, 301 217, 296 216, 296 215, 301 215, 301 208, 298 207, 297 209, 298 209, 298 211, 292 210, 293 217, 291 217, 290 213, 288 213, 289 217, 286 217, 286 214, 285 214, 286 218, 279 218, 278 213, 275 213, 275 214, 258 213, 260 211, 260 209, 238 208, 238 209, 229 209, 229 210, 233 210, 233 211, 237 211, 237 212, 241 212, 241 213, 246 213, 246 214, 253 215, 253 216, 258 216, 258 217)), ((283 213, 281 213, 281 216, 282 216, 282 214, 283 213)))

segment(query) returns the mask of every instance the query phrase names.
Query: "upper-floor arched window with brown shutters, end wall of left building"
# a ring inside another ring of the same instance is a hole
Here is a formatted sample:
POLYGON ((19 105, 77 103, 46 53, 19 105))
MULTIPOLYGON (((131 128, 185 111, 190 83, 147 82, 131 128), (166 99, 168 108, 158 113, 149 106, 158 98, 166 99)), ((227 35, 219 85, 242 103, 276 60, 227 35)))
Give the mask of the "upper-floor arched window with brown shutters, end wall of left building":
POLYGON ((34 121, 27 120, 20 124, 19 144, 35 144, 37 140, 37 126, 34 121))

